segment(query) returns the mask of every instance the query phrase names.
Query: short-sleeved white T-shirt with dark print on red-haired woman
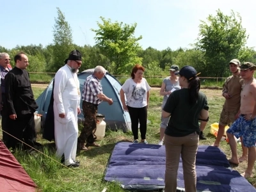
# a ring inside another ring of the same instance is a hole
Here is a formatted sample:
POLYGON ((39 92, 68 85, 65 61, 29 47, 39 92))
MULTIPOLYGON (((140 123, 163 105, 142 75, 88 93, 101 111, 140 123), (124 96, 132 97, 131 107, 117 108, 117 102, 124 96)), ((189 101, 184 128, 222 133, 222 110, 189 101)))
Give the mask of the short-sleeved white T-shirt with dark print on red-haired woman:
POLYGON ((142 78, 141 83, 135 83, 132 78, 125 81, 122 90, 126 96, 126 104, 132 108, 143 108, 147 106, 147 92, 150 86, 145 78, 142 78))

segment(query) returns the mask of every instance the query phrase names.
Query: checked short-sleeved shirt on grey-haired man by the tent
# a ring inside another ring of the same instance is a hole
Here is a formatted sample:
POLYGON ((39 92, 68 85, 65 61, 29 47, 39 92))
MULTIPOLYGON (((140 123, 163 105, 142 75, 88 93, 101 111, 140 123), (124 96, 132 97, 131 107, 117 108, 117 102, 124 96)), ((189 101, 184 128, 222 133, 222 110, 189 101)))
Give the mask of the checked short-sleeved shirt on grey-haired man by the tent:
POLYGON ((102 100, 97 97, 98 94, 102 93, 102 86, 99 79, 93 74, 88 76, 84 81, 84 88, 82 93, 83 100, 92 104, 99 105, 102 102, 102 100))

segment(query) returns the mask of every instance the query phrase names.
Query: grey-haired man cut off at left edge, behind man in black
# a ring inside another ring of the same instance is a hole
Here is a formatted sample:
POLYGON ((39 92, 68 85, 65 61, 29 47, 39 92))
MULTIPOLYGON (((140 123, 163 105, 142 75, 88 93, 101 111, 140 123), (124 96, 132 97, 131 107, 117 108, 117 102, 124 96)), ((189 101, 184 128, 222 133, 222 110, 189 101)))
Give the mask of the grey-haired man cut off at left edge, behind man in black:
POLYGON ((6 74, 12 70, 12 66, 10 65, 10 56, 6 52, 1 52, 0 53, 0 75, 1 75, 1 99, 0 99, 0 111, 1 111, 1 116, 2 116, 2 130, 3 130, 3 141, 7 140, 8 134, 6 134, 6 120, 8 116, 5 113, 5 108, 6 106, 6 100, 5 100, 5 88, 4 88, 4 77, 6 74))

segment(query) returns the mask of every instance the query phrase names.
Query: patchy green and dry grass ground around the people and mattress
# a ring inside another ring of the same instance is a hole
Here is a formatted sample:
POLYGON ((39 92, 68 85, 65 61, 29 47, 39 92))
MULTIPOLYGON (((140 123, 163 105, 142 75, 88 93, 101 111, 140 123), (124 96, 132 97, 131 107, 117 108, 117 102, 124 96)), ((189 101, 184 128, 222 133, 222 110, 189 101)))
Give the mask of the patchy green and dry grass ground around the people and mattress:
MULTIPOLYGON (((44 87, 33 86, 35 97, 38 97, 44 90, 44 87)), ((221 108, 224 102, 221 97, 221 90, 202 90, 207 95, 209 102, 210 119, 205 128, 205 136, 207 140, 200 141, 201 145, 212 145, 214 136, 210 134, 210 125, 218 122, 221 108)), ((159 140, 159 124, 161 119, 161 104, 163 97, 159 95, 159 88, 152 88, 150 92, 150 102, 148 108, 148 124, 147 140, 149 143, 158 143, 159 140)), ((1 136, 0 136, 1 137, 1 136)), ((56 163, 54 156, 53 143, 42 140, 42 136, 38 135, 38 141, 44 144, 44 156, 42 154, 29 155, 25 152, 16 151, 13 155, 24 167, 30 177, 36 182, 40 191, 102 191, 107 188, 107 192, 124 191, 118 184, 104 182, 104 170, 117 141, 132 141, 132 133, 124 133, 122 131, 106 131, 106 136, 99 141, 102 147, 92 148, 85 152, 77 154, 77 159, 81 161, 79 168, 68 169, 56 163), (51 158, 52 159, 51 159, 51 158)), ((226 141, 222 141, 221 150, 230 157, 230 147, 226 141)), ((238 150, 241 154, 241 150, 238 150)), ((246 168, 246 162, 239 164, 235 170, 242 173, 246 168)), ((255 169, 254 169, 255 172, 255 169)), ((256 186, 256 179, 253 177, 249 182, 256 186)))

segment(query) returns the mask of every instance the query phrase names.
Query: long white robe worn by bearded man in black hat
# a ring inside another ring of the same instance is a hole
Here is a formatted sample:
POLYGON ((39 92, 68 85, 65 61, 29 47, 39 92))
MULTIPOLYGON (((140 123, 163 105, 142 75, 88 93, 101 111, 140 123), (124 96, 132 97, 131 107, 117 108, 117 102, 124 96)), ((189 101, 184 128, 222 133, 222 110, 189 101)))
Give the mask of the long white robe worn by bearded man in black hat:
POLYGON ((68 65, 61 67, 54 77, 54 134, 56 156, 64 154, 66 166, 76 161, 80 95, 77 74, 68 65), (60 113, 65 113, 65 118, 60 118, 60 113))

